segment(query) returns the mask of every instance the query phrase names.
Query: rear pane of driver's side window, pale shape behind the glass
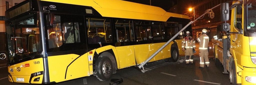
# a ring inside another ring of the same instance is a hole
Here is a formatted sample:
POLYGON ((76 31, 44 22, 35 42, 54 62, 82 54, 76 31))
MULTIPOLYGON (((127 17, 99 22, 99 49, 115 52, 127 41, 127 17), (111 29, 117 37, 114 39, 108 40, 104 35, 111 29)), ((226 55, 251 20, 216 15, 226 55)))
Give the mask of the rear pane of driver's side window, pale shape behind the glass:
POLYGON ((78 22, 65 22, 62 24, 64 43, 80 42, 78 22))

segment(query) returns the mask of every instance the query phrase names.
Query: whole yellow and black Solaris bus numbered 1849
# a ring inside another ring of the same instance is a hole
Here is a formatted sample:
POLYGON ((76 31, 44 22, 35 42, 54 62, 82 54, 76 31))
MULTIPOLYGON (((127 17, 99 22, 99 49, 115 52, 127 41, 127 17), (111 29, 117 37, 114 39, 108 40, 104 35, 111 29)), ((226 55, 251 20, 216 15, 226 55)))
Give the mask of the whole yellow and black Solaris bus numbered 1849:
MULTIPOLYGON (((190 22, 121 0, 27 0, 5 12, 10 82, 57 83, 136 66, 190 22)), ((191 32, 191 26, 184 31, 191 32)), ((150 62, 176 62, 183 33, 150 62)))

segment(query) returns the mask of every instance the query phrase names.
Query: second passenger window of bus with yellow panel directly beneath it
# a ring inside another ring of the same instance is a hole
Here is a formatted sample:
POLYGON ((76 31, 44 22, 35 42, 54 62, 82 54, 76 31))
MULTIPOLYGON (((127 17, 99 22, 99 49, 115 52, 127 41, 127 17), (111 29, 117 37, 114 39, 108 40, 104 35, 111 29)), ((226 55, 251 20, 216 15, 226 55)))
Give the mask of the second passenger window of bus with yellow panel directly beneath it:
POLYGON ((135 66, 134 28, 132 20, 115 19, 115 47, 119 56, 120 68, 135 66))

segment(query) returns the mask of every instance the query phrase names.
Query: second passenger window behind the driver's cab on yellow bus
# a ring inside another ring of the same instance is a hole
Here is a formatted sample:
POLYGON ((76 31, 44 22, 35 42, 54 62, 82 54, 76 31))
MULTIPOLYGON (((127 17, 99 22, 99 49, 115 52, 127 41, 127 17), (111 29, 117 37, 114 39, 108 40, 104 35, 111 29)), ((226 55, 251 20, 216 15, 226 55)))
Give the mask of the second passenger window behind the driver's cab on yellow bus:
POLYGON ((115 20, 116 42, 134 41, 132 20, 115 20))

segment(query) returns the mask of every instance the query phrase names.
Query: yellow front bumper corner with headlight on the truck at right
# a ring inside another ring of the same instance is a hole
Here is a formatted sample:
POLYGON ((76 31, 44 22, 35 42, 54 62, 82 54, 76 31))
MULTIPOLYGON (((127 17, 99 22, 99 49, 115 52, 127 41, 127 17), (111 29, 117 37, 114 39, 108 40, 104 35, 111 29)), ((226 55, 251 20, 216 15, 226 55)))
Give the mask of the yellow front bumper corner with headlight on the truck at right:
MULTIPOLYGON (((238 72, 239 75, 240 72, 238 72)), ((255 85, 256 84, 256 68, 247 68, 241 71, 241 78, 243 85, 255 85)))

